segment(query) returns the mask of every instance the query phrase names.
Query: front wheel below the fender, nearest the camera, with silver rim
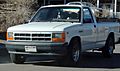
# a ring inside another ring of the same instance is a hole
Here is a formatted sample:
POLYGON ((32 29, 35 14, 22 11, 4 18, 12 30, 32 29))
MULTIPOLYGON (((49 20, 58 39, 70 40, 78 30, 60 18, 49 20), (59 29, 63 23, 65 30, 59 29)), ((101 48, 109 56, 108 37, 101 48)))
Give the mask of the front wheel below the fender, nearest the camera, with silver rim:
POLYGON ((80 40, 78 38, 74 38, 70 45, 69 45, 69 50, 67 53, 68 56, 68 61, 70 65, 78 65, 80 63, 80 58, 81 58, 81 44, 80 40))

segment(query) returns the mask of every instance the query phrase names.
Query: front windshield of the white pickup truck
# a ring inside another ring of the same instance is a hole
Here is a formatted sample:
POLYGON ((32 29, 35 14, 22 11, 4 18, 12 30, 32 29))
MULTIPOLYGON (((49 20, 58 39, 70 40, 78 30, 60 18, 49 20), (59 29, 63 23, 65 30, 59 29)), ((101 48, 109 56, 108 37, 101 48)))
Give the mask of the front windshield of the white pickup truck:
POLYGON ((80 22, 79 7, 47 7, 40 9, 30 22, 80 22))

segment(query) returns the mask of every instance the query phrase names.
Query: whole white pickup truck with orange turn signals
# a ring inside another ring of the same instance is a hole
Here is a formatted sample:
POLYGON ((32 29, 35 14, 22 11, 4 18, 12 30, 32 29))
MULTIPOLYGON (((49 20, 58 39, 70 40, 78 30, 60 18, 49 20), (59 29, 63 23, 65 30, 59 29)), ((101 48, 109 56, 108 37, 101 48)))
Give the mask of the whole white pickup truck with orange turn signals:
POLYGON ((49 5, 41 7, 29 23, 9 27, 6 48, 16 64, 24 63, 27 55, 41 55, 77 65, 86 50, 99 49, 111 57, 118 35, 119 23, 97 23, 87 6, 49 5))

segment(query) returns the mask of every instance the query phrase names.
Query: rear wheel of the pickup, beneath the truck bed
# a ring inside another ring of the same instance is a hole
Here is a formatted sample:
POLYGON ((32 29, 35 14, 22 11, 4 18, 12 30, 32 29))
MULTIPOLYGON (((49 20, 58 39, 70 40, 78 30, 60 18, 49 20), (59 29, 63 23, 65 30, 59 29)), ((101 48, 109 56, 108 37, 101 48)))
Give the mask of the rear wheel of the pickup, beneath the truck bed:
POLYGON ((114 43, 114 38, 110 36, 107 41, 105 46, 102 49, 102 54, 106 58, 111 58, 113 55, 113 51, 115 49, 115 43, 114 43))

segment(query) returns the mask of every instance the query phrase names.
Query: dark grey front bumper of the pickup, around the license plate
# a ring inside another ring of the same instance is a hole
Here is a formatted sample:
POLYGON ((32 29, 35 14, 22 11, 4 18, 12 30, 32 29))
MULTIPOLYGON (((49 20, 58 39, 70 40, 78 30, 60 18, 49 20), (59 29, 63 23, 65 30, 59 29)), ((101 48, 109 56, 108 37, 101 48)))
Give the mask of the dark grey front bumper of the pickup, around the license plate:
POLYGON ((29 55, 65 55, 67 52, 67 43, 53 42, 11 42, 6 41, 6 48, 12 54, 29 54, 29 55), (25 46, 35 46, 36 52, 26 52, 25 46))

